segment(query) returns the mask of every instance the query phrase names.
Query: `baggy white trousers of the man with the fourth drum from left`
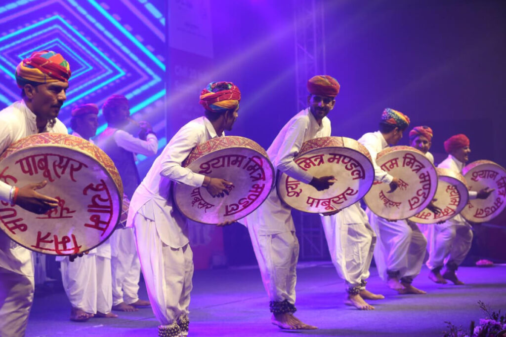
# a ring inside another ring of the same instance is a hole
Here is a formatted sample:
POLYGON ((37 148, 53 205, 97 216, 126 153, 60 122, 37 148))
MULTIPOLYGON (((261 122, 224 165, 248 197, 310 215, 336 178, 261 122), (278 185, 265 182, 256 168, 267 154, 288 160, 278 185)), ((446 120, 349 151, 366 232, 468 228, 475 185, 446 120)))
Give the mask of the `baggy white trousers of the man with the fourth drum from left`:
POLYGON ((376 235, 365 213, 357 207, 360 208, 358 204, 352 205, 338 214, 321 217, 330 259, 348 290, 365 286, 376 243, 376 235), (363 216, 347 216, 350 212, 363 216), (350 218, 357 219, 357 223, 346 223, 350 218))

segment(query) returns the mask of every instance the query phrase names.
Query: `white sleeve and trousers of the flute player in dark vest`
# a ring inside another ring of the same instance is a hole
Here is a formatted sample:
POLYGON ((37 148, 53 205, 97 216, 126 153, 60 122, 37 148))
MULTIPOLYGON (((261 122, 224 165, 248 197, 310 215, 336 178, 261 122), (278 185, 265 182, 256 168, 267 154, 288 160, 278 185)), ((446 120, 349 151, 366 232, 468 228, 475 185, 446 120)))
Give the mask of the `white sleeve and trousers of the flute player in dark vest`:
MULTIPOLYGON (((116 130, 113 134, 116 145, 126 151, 136 154, 154 156, 158 151, 158 138, 152 133, 146 140, 134 137, 123 130, 116 130)), ((135 234, 132 228, 115 230, 109 238, 111 246, 112 269, 112 305, 122 302, 132 304, 139 300, 139 278, 141 276, 141 262, 135 246, 135 234)))

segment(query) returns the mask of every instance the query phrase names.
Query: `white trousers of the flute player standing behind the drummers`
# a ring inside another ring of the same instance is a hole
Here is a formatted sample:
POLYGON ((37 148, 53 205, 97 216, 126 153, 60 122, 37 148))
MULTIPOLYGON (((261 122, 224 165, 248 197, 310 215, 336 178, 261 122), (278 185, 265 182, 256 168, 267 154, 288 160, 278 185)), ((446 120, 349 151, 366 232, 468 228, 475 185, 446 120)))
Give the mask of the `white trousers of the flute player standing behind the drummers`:
POLYGON ((112 305, 132 304, 139 300, 141 263, 135 246, 133 228, 117 229, 110 238, 112 305))

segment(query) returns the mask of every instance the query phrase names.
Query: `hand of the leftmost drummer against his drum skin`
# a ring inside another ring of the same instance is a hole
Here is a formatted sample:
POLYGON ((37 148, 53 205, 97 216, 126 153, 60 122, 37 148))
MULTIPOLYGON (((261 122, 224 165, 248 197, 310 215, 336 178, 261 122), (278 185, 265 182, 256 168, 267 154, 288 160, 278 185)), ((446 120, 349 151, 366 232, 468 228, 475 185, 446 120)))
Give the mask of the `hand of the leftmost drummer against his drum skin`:
POLYGON ((19 187, 16 197, 16 205, 35 214, 44 214, 50 209, 58 207, 58 200, 36 192, 36 189, 43 188, 47 180, 39 183, 28 184, 19 187))

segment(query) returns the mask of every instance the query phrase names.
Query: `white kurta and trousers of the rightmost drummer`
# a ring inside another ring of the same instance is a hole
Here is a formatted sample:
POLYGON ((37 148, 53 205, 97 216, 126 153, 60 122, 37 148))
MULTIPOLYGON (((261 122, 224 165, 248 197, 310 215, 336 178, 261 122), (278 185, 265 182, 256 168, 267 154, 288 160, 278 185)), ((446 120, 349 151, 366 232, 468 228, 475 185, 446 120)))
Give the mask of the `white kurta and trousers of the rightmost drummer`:
MULTIPOLYGON (((447 168, 462 173, 464 163, 452 155, 443 160, 438 167, 447 168)), ((477 192, 470 191, 469 198, 476 199, 477 192)), ((466 258, 471 243, 473 231, 471 225, 460 214, 441 224, 427 226, 427 240, 429 242, 429 269, 441 268, 443 265, 456 269, 466 258)))

